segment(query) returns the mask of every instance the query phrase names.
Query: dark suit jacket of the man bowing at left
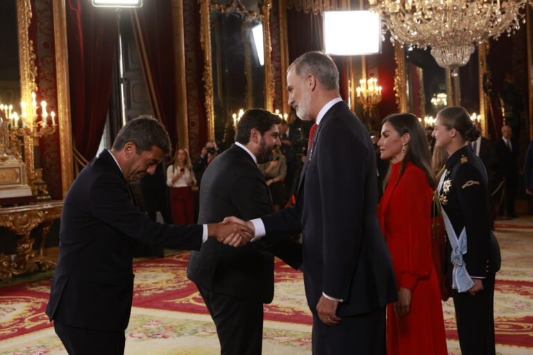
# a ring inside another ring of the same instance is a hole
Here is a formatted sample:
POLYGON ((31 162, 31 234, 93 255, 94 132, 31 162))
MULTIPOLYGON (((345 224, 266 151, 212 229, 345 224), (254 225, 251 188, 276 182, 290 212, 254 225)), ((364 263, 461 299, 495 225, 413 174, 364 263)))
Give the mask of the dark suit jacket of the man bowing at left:
POLYGON ((135 239, 198 250, 202 235, 201 225, 155 223, 142 214, 115 159, 104 150, 65 198, 46 314, 72 327, 124 331, 133 297, 135 239))

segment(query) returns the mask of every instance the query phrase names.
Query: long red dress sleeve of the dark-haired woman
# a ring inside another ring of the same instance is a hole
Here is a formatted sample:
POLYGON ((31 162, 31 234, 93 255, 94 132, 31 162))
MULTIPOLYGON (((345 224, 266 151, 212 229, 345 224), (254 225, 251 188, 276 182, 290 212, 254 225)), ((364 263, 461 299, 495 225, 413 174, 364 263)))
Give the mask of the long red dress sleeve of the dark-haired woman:
POLYGON ((404 241, 400 243, 402 262, 395 268, 400 271, 398 286, 414 290, 419 279, 430 276, 431 256, 431 197, 432 189, 423 171, 408 166, 394 193, 395 209, 389 226, 398 228, 404 241), (395 227, 397 226, 397 227, 395 227))

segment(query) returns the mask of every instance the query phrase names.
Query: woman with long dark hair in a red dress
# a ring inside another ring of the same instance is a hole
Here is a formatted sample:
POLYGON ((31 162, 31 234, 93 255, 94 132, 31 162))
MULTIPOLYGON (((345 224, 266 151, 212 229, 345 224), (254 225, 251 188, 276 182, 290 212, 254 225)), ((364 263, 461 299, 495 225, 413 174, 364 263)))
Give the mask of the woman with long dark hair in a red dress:
POLYGON ((431 256, 434 174, 428 141, 413 114, 383 121, 378 141, 391 161, 378 207, 391 252, 398 302, 387 306, 387 354, 448 354, 439 280, 431 256))

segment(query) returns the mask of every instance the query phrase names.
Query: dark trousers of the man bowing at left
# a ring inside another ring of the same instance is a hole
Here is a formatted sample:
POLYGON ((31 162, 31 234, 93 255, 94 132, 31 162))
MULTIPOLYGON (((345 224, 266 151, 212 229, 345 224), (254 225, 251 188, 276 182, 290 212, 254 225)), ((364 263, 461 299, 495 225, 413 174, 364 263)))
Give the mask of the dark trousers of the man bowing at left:
POLYGON ((53 327, 69 355, 124 355, 124 331, 76 328, 57 321, 53 327))

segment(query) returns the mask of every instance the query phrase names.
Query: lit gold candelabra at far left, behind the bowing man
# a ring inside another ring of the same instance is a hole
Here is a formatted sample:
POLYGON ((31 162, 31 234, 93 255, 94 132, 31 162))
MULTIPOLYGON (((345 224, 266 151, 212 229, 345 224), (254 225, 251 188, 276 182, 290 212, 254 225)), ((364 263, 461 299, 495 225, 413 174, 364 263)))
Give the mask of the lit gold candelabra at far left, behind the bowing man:
POLYGON ((56 113, 46 110, 46 101, 41 101, 37 105, 35 92, 31 93, 31 103, 21 101, 21 114, 10 112, 8 119, 10 122, 10 140, 24 140, 24 155, 28 168, 28 179, 31 190, 37 200, 50 200, 46 183, 42 180, 42 168, 39 162, 39 139, 53 135, 57 130, 56 113), (40 120, 39 120, 40 119, 40 120))

